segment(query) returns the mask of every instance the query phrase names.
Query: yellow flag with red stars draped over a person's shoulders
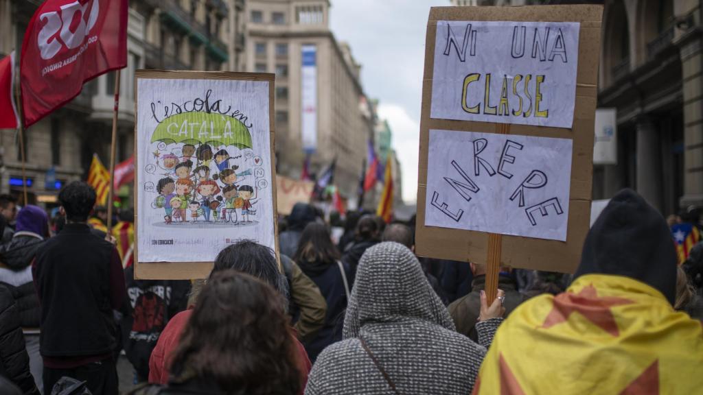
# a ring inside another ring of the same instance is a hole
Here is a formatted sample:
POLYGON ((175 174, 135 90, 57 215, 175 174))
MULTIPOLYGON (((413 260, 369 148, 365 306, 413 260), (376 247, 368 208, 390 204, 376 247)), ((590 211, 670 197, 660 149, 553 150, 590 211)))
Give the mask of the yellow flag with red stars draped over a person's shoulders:
POLYGON ((703 326, 653 287, 588 274, 510 313, 473 394, 697 394, 703 326))

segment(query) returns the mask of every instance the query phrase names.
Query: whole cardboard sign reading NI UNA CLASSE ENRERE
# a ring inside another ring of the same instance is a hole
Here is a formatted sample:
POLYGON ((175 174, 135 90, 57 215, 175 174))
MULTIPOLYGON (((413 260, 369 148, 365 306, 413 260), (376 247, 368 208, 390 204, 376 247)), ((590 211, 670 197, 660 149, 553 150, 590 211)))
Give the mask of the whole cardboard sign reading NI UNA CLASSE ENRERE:
POLYGON ((432 8, 419 255, 486 264, 498 234, 503 265, 575 270, 590 219, 601 18, 591 5, 432 8))

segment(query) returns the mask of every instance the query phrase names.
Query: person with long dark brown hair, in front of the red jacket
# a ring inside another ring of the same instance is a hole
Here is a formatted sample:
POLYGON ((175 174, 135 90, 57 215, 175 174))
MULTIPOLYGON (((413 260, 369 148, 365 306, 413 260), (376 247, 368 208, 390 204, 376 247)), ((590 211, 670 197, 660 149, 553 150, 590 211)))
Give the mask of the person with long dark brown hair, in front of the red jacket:
POLYGON ((212 273, 171 363, 167 387, 133 394, 280 394, 301 389, 283 295, 248 274, 212 273))

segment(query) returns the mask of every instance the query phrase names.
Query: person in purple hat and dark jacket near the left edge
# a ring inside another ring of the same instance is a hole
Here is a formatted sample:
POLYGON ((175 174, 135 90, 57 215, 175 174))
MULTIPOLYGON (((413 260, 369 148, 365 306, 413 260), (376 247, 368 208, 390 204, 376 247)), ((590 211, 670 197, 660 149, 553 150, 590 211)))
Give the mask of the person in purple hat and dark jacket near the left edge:
POLYGON ((17 304, 20 325, 25 335, 30 370, 39 390, 43 363, 39 354, 39 297, 32 283, 32 261, 49 237, 49 216, 41 207, 27 205, 15 219, 15 233, 0 249, 0 285, 6 287, 17 304))

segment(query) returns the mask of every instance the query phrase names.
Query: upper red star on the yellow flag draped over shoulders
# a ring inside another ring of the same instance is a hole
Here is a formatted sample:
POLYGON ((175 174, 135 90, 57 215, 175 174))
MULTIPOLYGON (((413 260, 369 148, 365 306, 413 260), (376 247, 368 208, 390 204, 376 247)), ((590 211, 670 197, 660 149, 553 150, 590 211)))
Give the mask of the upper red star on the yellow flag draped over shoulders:
POLYGON ((633 303, 631 300, 620 297, 598 297, 595 287, 591 284, 583 287, 579 294, 564 292, 554 297, 554 307, 544 320, 542 328, 551 328, 558 323, 563 323, 574 311, 578 311, 581 316, 586 317, 610 335, 618 336, 620 332, 610 308, 631 303, 633 303))

